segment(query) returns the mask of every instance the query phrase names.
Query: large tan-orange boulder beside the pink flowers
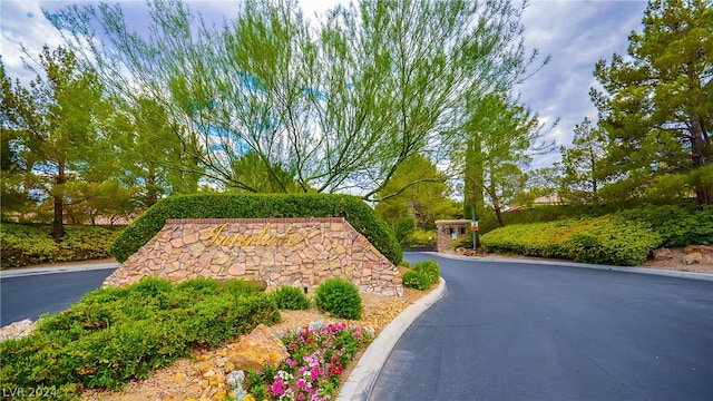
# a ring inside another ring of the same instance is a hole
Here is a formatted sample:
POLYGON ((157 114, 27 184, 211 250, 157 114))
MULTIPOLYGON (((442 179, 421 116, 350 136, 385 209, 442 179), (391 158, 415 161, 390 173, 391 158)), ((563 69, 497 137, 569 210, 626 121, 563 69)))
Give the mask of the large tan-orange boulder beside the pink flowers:
POLYGON ((252 333, 243 336, 228 352, 228 360, 244 371, 260 369, 266 362, 280 363, 290 358, 287 348, 264 324, 258 325, 252 333))

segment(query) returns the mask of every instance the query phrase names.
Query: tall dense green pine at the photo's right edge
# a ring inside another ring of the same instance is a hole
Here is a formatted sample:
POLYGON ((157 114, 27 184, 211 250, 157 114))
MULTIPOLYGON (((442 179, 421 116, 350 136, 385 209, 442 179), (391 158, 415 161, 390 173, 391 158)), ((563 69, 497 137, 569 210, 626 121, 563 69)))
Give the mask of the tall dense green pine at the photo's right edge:
POLYGON ((652 0, 629 59, 599 60, 592 89, 608 136, 606 165, 618 196, 646 196, 664 175, 683 175, 700 205, 713 204, 713 6, 652 0))

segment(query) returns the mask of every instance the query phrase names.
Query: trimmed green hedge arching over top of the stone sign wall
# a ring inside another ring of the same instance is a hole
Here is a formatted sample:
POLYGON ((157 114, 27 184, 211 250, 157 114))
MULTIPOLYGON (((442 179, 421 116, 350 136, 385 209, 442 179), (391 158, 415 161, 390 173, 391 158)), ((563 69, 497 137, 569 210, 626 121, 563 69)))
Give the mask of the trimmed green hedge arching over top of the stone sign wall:
POLYGON ((199 194, 157 202, 119 235, 110 253, 119 263, 136 253, 168 218, 344 217, 393 264, 403 257, 387 224, 361 199, 349 195, 199 194))

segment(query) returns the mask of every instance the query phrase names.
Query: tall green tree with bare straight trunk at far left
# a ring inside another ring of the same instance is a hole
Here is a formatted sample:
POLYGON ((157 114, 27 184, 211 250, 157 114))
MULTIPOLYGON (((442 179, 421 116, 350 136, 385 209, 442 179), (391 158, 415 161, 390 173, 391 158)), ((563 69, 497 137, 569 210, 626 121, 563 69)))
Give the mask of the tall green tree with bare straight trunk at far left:
POLYGON ((104 178, 102 160, 110 158, 110 147, 102 144, 98 121, 107 109, 96 74, 81 68, 72 51, 45 46, 38 62, 41 72, 29 88, 18 84, 7 91, 3 128, 22 134, 19 147, 26 153, 28 175, 50 178, 47 192, 53 203, 53 237, 59 241, 65 184, 82 174, 104 178))

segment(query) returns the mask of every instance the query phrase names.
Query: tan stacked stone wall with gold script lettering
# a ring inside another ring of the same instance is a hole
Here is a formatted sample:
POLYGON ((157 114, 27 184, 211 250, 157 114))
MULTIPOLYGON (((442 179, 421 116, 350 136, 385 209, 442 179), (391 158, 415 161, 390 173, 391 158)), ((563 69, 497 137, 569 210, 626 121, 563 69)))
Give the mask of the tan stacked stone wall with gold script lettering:
POLYGON ((342 276, 361 292, 403 295, 398 268, 341 217, 168 219, 105 286, 144 276, 244 278, 310 292, 342 276))

